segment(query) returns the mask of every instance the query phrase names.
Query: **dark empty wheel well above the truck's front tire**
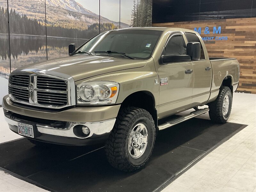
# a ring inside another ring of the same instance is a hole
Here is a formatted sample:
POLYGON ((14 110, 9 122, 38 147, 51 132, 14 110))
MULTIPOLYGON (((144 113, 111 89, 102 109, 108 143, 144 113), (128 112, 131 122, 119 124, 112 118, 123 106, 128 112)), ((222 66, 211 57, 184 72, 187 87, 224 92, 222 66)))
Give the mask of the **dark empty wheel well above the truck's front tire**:
POLYGON ((157 132, 157 111, 155 108, 155 98, 151 92, 140 91, 135 92, 125 98, 122 107, 138 107, 147 110, 153 117, 157 132))

